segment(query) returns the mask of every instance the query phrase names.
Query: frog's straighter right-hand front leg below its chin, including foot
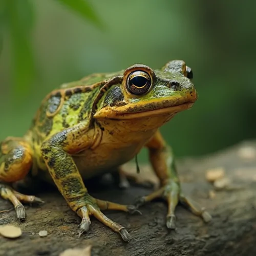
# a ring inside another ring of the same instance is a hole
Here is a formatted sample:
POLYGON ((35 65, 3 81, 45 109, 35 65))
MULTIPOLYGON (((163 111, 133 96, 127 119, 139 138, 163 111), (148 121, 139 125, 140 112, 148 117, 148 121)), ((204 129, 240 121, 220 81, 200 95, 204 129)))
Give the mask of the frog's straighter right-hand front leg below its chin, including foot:
POLYGON ((152 194, 140 198, 137 202, 137 206, 156 198, 164 198, 168 203, 166 226, 172 229, 175 228, 175 207, 179 201, 188 206, 195 215, 201 216, 205 222, 210 221, 211 216, 205 208, 182 194, 172 150, 166 145, 160 132, 157 131, 145 146, 149 150, 150 160, 160 180, 161 187, 152 194))

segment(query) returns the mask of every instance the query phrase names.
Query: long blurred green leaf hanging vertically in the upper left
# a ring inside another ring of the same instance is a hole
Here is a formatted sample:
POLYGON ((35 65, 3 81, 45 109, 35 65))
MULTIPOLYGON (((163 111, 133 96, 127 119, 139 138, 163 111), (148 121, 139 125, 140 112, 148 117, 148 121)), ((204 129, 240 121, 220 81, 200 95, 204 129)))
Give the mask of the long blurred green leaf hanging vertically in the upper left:
POLYGON ((30 31, 33 7, 30 0, 5 0, 12 47, 15 100, 26 95, 34 76, 30 31))

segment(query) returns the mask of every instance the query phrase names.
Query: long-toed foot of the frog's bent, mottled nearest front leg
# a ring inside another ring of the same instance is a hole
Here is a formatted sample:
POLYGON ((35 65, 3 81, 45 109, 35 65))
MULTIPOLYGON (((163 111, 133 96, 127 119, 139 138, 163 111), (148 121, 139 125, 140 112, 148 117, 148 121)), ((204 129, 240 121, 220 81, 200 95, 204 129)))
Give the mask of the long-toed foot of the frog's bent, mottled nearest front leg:
POLYGON ((89 216, 92 215, 100 222, 102 222, 104 225, 110 227, 113 231, 119 233, 121 235, 121 238, 125 242, 129 242, 131 240, 131 235, 129 234, 129 232, 123 226, 112 221, 104 214, 102 214, 101 210, 121 210, 129 212, 130 214, 134 214, 135 212, 141 214, 140 211, 138 211, 135 206, 102 201, 92 197, 90 197, 90 200, 88 201, 90 203, 87 203, 85 206, 82 206, 77 210, 77 214, 82 218, 82 221, 79 225, 79 237, 84 231, 89 230, 89 226, 91 224, 89 216))

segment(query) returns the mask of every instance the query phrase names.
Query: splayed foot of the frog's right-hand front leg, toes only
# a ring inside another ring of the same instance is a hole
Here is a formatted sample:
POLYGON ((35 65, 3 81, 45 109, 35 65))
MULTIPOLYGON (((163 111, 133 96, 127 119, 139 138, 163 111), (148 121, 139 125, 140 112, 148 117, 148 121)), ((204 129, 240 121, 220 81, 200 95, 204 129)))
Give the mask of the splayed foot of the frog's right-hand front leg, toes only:
POLYGON ((190 208, 193 214, 200 216, 205 222, 209 222, 211 220, 210 214, 205 210, 204 207, 201 207, 196 202, 193 202, 191 199, 185 197, 181 193, 180 185, 176 181, 169 180, 166 182, 166 185, 154 191, 152 194, 139 198, 136 202, 136 206, 139 207, 146 202, 150 202, 156 198, 163 198, 168 203, 168 213, 166 216, 167 228, 175 229, 176 227, 176 217, 174 212, 178 202, 181 202, 190 208))

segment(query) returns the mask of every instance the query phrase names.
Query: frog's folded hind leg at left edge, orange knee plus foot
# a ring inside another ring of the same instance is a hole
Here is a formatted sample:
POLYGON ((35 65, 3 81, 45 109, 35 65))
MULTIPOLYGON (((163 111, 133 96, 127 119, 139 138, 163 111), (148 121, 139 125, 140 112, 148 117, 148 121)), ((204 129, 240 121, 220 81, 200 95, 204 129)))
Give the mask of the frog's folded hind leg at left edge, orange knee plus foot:
POLYGON ((42 202, 35 196, 26 196, 15 191, 6 183, 13 183, 26 177, 32 167, 32 150, 22 138, 9 137, 0 143, 0 197, 9 200, 15 207, 18 219, 25 219, 22 202, 42 202))

